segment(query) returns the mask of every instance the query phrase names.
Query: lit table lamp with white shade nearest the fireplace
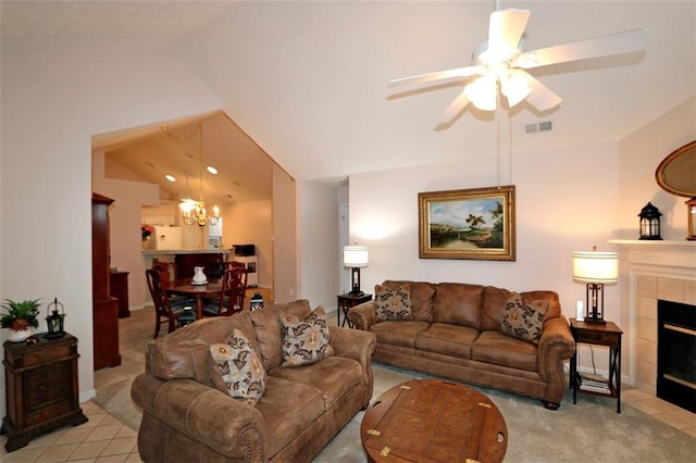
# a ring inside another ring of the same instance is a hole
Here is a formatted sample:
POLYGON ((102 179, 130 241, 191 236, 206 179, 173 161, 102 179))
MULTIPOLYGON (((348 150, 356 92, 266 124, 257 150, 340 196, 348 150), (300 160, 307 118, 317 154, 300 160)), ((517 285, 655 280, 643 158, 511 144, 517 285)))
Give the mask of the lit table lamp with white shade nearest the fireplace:
POLYGON ((586 323, 605 324, 604 285, 619 280, 619 255, 616 252, 573 252, 573 280, 587 284, 586 323))

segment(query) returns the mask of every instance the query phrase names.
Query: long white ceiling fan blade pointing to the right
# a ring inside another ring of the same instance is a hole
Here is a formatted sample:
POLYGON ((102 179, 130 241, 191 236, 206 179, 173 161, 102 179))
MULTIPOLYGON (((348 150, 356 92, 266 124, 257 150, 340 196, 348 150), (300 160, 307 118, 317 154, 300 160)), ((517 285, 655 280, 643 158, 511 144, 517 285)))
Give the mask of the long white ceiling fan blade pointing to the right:
POLYGON ((633 29, 608 36, 596 37, 572 43, 542 48, 520 54, 512 66, 523 70, 566 63, 611 54, 631 53, 645 48, 648 35, 644 29, 633 29))

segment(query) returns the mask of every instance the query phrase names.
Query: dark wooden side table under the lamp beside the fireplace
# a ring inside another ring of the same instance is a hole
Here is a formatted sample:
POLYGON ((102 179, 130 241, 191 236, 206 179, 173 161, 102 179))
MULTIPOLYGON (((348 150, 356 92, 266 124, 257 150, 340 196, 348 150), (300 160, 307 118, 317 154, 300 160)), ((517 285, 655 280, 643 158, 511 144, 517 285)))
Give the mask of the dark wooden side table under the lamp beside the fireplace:
POLYGON ((606 324, 570 321, 570 330, 575 343, 587 343, 609 347, 609 393, 593 392, 580 388, 580 374, 577 373, 579 349, 570 360, 570 384, 573 388, 573 404, 576 403, 577 391, 595 393, 598 396, 617 399, 617 413, 621 413, 621 335, 623 331, 613 322, 606 324))

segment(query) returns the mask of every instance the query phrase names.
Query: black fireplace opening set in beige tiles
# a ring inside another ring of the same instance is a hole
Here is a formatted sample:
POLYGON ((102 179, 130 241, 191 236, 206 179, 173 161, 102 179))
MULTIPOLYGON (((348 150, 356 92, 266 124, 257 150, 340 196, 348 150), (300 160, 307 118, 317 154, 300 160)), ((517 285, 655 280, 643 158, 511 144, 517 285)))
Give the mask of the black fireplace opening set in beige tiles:
POLYGON ((696 306, 658 300, 657 397, 696 413, 696 306))

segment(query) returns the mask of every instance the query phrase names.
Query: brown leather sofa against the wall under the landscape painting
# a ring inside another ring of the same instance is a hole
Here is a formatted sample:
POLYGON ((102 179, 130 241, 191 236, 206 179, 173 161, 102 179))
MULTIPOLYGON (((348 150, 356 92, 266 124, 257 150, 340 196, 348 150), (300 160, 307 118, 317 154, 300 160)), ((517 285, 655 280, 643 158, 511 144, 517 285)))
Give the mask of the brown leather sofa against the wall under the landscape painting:
POLYGON ((393 281, 410 290, 411 321, 377 322, 375 301, 351 308, 348 320, 374 333, 372 360, 436 376, 540 399, 556 410, 566 393, 563 361, 575 352, 554 291, 529 291, 524 301, 548 301, 538 345, 501 331, 511 291, 461 283, 393 281))

